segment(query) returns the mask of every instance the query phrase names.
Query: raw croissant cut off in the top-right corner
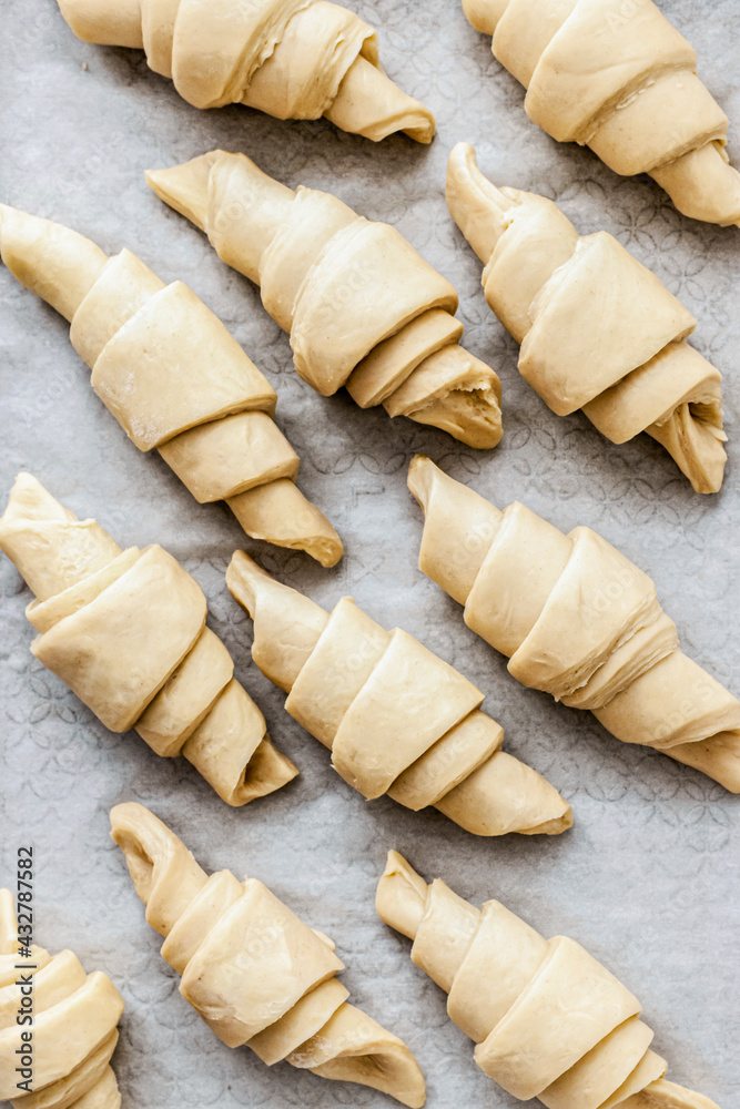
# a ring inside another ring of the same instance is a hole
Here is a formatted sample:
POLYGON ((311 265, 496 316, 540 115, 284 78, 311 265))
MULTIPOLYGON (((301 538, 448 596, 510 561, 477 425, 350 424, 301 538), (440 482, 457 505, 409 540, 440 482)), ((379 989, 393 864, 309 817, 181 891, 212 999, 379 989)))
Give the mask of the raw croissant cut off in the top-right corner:
POLYGON ((649 173, 679 212, 740 224, 728 121, 697 55, 651 0, 463 0, 553 139, 590 146, 616 173, 649 173))

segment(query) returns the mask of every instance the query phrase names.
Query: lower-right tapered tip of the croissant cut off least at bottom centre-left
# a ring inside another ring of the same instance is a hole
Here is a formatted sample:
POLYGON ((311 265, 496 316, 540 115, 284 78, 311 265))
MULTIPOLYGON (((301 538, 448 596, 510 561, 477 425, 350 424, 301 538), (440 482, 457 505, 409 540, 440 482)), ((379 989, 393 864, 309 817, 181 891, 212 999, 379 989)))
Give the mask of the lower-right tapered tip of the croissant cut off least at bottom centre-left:
POLYGON ((369 1086, 409 1109, 420 1109, 426 1100, 424 1075, 403 1040, 346 1001, 288 1062, 321 1078, 369 1086))

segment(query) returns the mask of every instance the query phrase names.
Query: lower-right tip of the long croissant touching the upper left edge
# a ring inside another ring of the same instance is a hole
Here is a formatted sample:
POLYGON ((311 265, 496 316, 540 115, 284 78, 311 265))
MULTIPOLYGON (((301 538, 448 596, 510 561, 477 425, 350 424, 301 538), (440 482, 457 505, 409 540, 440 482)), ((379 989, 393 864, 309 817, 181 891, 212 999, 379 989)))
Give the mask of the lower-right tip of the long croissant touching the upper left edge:
POLYGON ((305 551, 325 567, 336 566, 344 553, 324 513, 288 478, 229 497, 226 503, 253 539, 305 551))

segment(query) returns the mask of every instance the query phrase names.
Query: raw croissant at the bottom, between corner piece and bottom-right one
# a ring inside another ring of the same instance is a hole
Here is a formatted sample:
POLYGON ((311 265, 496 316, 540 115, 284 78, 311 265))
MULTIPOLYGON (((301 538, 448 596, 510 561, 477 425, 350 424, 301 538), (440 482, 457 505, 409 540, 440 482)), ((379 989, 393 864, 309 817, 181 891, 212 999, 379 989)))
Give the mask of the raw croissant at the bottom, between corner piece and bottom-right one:
POLYGON ((146 920, 164 936, 162 956, 182 975, 180 993, 220 1040, 245 1044, 268 1067, 286 1059, 424 1105, 424 1076, 406 1045, 347 1004, 327 936, 257 878, 206 876, 142 805, 116 805, 111 827, 146 920))

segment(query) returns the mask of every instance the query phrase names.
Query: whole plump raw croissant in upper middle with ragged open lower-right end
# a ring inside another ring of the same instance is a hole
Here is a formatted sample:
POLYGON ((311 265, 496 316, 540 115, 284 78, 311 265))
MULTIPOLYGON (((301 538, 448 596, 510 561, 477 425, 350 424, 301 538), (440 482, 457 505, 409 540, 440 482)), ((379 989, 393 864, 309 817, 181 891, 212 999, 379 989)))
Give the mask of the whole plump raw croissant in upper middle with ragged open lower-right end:
POLYGON ((261 286, 298 375, 361 408, 382 404, 470 447, 501 437, 501 389, 459 340, 457 294, 394 227, 331 193, 287 189, 244 154, 214 150, 146 181, 261 286))

